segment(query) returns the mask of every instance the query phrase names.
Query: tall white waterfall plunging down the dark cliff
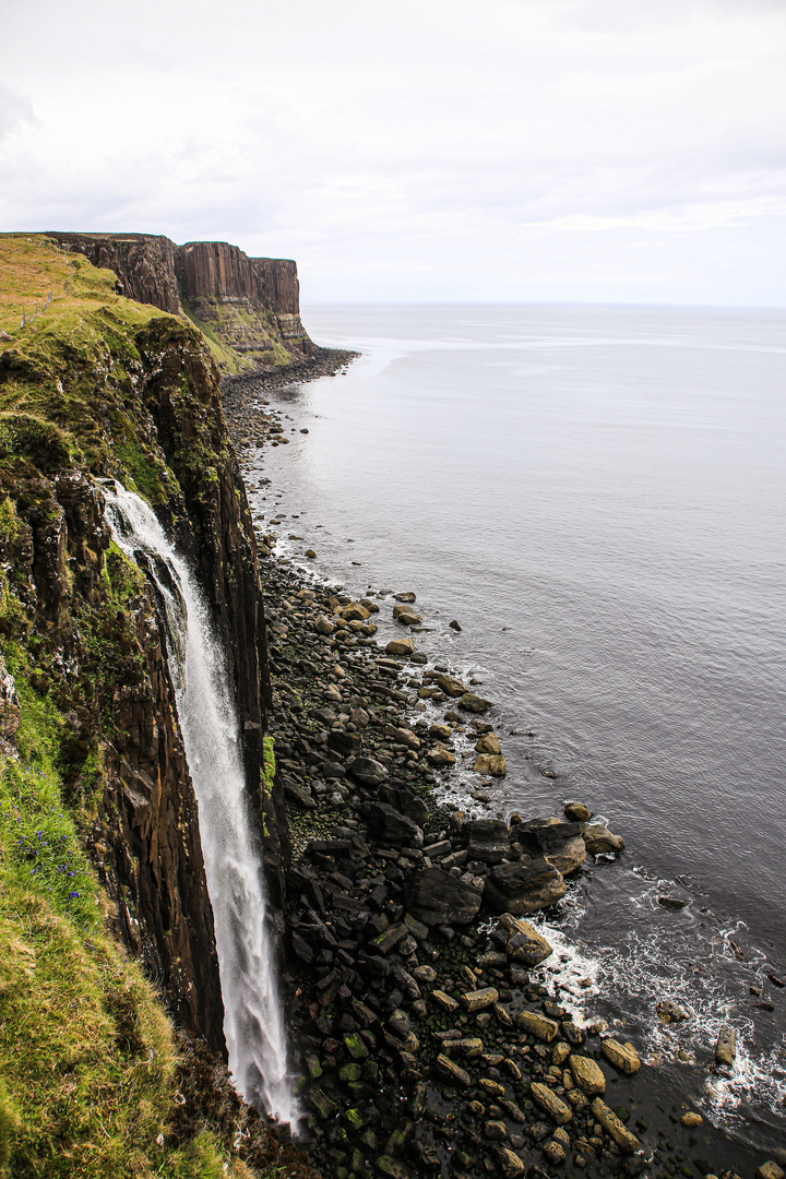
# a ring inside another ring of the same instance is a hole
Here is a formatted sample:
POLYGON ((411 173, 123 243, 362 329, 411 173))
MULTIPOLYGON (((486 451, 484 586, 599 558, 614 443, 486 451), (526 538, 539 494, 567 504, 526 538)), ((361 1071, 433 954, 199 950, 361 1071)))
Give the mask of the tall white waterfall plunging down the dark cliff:
POLYGON ((112 535, 152 579, 166 620, 180 731, 199 805, 230 1069, 249 1104, 293 1122, 260 854, 249 821, 223 653, 189 565, 151 508, 119 483, 107 485, 105 493, 112 535))

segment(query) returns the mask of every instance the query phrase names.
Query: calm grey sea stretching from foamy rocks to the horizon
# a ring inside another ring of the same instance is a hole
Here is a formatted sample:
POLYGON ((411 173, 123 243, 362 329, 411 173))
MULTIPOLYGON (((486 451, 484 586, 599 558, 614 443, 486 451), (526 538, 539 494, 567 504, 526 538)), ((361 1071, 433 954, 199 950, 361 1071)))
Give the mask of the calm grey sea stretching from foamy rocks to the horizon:
POLYGON ((702 1109, 782 1139, 786 990, 767 974, 786 968, 786 315, 305 321, 363 356, 270 396, 295 433, 265 448, 252 502, 348 591, 416 591, 417 645, 497 704, 508 777, 488 814, 573 797, 625 836, 576 882, 562 934, 702 1109), (663 995, 685 1025, 660 1027, 663 995), (724 1021, 739 1067, 708 1082, 724 1021))

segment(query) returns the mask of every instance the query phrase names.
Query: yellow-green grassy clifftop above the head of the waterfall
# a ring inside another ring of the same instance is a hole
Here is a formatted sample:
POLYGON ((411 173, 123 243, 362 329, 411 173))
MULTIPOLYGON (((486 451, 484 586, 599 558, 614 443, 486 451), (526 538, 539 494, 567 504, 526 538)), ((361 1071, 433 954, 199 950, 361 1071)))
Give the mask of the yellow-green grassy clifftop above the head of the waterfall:
POLYGON ((161 501, 176 485, 139 430, 140 332, 202 342, 114 285, 112 271, 44 237, 0 237, 0 468, 20 477, 85 467, 161 501))

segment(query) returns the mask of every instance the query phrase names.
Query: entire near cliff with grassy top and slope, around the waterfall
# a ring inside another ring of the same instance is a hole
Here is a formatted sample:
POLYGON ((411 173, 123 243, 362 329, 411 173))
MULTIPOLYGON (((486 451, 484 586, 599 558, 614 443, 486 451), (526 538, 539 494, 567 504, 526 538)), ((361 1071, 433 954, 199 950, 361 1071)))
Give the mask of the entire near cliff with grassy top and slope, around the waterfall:
MULTIPOLYGON (((164 263, 147 292, 165 302, 164 263)), ((0 265, 0 1167, 212 1174, 236 1165, 239 1129, 245 1158, 269 1162, 271 1131, 220 1080, 213 917, 164 623, 104 518, 119 480, 197 572, 276 890, 288 845, 262 772, 264 606, 218 371, 187 320, 118 295, 114 272, 51 238, 2 238, 0 265)))

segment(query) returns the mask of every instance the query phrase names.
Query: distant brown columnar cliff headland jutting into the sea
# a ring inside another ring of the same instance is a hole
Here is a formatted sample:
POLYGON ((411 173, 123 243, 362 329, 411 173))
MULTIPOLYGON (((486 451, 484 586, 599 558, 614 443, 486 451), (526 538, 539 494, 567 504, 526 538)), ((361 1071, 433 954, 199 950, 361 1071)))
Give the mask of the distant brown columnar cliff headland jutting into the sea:
POLYGON ((250 258, 226 242, 176 245, 145 233, 47 236, 113 270, 120 294, 192 320, 224 371, 302 363, 317 351, 300 321, 295 262, 250 258))

